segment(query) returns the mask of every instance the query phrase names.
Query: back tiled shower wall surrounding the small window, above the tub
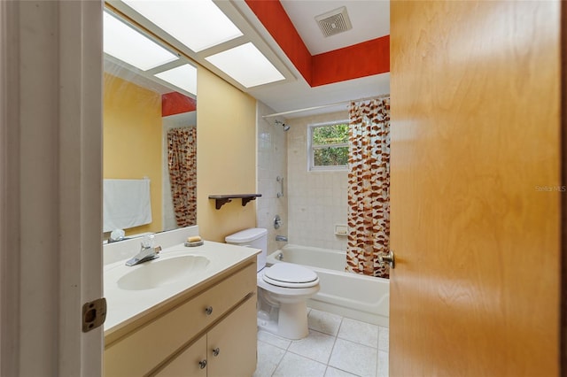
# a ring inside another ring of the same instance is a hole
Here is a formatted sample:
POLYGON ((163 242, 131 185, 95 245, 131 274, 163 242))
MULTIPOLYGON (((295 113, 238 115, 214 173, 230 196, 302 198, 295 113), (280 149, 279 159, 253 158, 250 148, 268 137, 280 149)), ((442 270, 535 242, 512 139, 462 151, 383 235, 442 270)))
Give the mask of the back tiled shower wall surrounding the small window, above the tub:
POLYGON ((346 225, 347 172, 307 171, 307 126, 345 119, 346 110, 287 120, 290 243, 346 251, 346 235, 335 235, 335 225, 346 225))

